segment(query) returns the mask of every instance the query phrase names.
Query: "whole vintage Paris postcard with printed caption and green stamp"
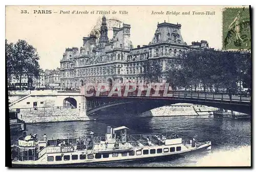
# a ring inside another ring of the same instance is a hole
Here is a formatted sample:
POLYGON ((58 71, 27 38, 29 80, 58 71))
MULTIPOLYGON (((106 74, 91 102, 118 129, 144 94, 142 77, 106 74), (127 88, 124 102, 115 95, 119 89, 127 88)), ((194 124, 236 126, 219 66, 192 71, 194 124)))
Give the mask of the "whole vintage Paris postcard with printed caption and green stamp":
POLYGON ((250 17, 6 6, 7 166, 251 167, 250 17))

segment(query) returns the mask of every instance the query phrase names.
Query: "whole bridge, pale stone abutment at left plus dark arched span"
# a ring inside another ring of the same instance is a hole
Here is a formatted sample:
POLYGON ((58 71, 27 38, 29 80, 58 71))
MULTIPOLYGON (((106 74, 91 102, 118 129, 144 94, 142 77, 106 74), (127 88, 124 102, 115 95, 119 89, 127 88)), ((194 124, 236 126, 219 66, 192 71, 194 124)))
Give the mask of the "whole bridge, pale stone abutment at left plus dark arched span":
POLYGON ((175 103, 207 105, 251 114, 251 97, 247 94, 187 91, 168 91, 167 96, 163 96, 162 93, 158 96, 154 93, 138 96, 136 92, 110 96, 108 91, 98 96, 95 92, 90 94, 90 96, 84 96, 80 91, 36 91, 13 101, 9 104, 9 109, 20 111, 20 114, 24 114, 23 117, 26 116, 29 121, 30 118, 38 118, 40 122, 47 122, 49 116, 56 114, 59 119, 53 118, 55 121, 70 120, 70 116, 75 117, 73 120, 89 120, 90 116, 97 114, 98 111, 108 110, 109 107, 121 111, 128 108, 133 112, 145 112, 175 103))

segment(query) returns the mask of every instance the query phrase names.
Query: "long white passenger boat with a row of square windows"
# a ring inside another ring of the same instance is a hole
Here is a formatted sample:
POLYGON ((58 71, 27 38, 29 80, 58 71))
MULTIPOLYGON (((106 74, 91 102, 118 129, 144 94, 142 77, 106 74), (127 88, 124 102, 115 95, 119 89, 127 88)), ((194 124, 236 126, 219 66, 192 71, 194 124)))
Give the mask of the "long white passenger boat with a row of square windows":
POLYGON ((52 134, 44 140, 18 139, 12 145, 13 166, 58 166, 132 161, 208 152, 211 141, 185 140, 172 134, 127 135, 129 128, 108 126, 104 137, 93 132, 52 134))

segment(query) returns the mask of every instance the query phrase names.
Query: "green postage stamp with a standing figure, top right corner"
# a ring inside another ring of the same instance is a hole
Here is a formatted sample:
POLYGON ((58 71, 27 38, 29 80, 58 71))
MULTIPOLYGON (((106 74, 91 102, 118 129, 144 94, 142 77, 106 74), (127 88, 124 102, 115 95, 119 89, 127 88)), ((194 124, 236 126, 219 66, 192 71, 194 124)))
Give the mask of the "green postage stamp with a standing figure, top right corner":
POLYGON ((249 8, 225 8, 223 10, 223 49, 250 50, 249 8))

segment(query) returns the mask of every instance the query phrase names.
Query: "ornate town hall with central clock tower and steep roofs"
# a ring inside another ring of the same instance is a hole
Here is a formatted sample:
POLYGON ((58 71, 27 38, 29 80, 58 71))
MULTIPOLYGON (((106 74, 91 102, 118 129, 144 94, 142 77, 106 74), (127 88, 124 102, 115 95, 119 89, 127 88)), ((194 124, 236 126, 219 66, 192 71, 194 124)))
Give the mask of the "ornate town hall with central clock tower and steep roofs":
MULTIPOLYGON (((179 59, 191 49, 208 49, 208 42, 192 42, 187 45, 181 36, 181 25, 158 23, 152 41, 148 45, 133 48, 130 39, 131 25, 113 27, 113 38, 108 37, 106 17, 102 17, 100 33, 83 37, 83 46, 67 48, 60 60, 61 89, 78 89, 86 83, 144 83, 142 63, 159 60, 162 71, 168 62, 179 59)), ((164 78, 160 78, 164 81, 164 78)))

